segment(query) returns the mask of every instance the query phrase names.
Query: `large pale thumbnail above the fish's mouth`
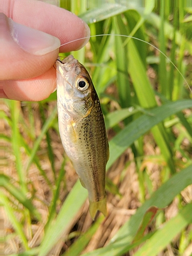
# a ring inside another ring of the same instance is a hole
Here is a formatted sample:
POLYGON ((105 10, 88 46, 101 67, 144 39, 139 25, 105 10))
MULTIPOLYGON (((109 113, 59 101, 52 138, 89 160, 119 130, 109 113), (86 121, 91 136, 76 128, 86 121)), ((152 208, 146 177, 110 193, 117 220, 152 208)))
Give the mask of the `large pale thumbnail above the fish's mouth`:
POLYGON ((11 18, 9 26, 12 38, 26 52, 41 56, 60 47, 55 36, 15 23, 11 18))

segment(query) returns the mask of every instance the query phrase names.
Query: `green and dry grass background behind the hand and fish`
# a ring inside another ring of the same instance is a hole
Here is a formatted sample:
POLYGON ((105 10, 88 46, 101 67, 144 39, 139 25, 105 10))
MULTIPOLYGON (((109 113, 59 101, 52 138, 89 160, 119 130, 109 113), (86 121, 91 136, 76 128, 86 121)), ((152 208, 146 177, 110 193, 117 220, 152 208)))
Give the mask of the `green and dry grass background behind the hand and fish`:
POLYGON ((91 35, 110 34, 72 53, 91 74, 108 131, 109 214, 89 215, 87 190, 60 142, 56 92, 41 102, 1 101, 2 253, 192 255, 188 2, 60 1, 91 35))

